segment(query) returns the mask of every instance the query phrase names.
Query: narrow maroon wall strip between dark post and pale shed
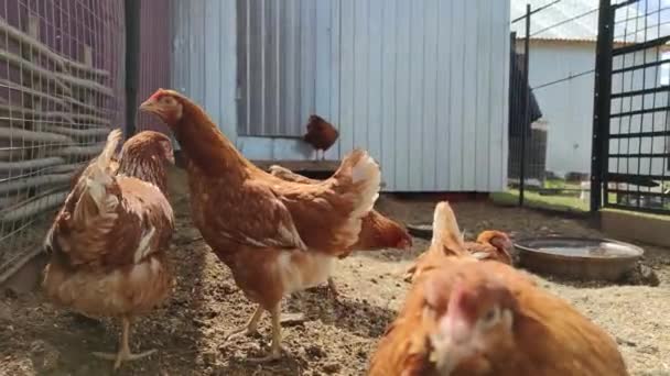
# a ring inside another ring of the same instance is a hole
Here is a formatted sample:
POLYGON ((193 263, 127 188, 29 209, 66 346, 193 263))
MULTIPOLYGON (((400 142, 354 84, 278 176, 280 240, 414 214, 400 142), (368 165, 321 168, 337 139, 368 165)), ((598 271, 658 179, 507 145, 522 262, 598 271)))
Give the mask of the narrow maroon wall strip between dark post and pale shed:
MULTIPOLYGON (((140 3, 140 106, 158 88, 170 87, 171 45, 170 7, 164 0, 142 0, 140 3)), ((166 132, 155 117, 138 111, 137 130, 166 132)))

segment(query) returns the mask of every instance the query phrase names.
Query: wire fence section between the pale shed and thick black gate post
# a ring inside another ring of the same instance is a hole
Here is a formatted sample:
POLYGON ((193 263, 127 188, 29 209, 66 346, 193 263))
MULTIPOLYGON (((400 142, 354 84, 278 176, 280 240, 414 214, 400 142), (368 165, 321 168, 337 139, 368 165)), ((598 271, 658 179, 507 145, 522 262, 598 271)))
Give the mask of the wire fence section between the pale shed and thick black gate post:
POLYGON ((511 193, 526 192, 526 204, 588 210, 598 14, 598 0, 511 0, 516 64, 510 65, 510 89, 516 90, 509 101, 508 177, 511 193), (527 120, 512 119, 526 108, 527 120))

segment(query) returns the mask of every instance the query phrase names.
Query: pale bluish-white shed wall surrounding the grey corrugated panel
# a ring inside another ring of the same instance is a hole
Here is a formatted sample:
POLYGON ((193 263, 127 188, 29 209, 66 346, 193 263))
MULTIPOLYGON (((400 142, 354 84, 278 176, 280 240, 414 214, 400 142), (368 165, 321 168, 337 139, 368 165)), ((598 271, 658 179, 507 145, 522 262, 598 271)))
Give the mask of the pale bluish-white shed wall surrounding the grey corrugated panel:
MULTIPOLYGON (((235 134, 235 0, 173 1, 174 86, 248 157, 309 158, 298 140, 235 134)), ((314 102, 298 118, 338 126, 326 157, 369 150, 391 191, 505 188, 508 0, 292 1, 315 7, 314 102)))

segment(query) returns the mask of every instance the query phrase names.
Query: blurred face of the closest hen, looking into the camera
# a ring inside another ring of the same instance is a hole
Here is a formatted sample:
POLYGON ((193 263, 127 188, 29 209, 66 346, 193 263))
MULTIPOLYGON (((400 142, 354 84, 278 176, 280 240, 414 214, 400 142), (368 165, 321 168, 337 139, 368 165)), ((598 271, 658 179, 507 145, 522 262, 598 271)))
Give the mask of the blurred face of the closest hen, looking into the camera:
POLYGON ((490 372, 496 356, 514 349, 516 300, 502 281, 477 264, 471 264, 467 274, 445 266, 423 281, 423 320, 434 327, 430 360, 444 375, 463 366, 490 372))

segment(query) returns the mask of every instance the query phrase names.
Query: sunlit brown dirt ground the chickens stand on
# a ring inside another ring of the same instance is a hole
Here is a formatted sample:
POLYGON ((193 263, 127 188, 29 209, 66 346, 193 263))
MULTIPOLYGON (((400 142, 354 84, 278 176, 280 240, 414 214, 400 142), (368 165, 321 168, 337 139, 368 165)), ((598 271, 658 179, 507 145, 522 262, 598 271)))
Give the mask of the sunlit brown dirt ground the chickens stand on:
MULTIPOLYGON (((402 302, 408 285, 401 275, 428 242, 411 252, 358 253, 337 264, 341 302, 325 288, 287 299, 284 312, 304 312, 306 321, 284 327, 289 355, 252 365, 270 339, 269 318, 260 338, 224 345, 224 332, 244 323, 253 307, 237 289, 229 270, 198 240, 188 218, 186 187, 174 177, 172 200, 177 234, 171 255, 177 285, 172 298, 134 325, 133 349, 159 349, 143 361, 127 363, 119 375, 363 375, 386 325, 402 302)), ((378 209, 408 223, 430 223, 433 202, 383 197, 378 209)), ((514 237, 548 234, 601 236, 585 222, 488 202, 454 204, 461 228, 472 237, 500 229, 514 237)), ((670 375, 670 250, 642 245, 645 263, 661 279, 659 287, 560 284, 541 285, 574 303, 619 343, 633 375, 670 375)), ((40 291, 0 297, 0 375, 109 375, 111 364, 91 351, 114 351, 118 323, 85 320, 55 310, 40 291)))

